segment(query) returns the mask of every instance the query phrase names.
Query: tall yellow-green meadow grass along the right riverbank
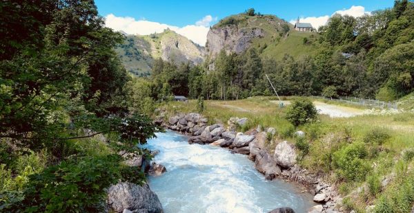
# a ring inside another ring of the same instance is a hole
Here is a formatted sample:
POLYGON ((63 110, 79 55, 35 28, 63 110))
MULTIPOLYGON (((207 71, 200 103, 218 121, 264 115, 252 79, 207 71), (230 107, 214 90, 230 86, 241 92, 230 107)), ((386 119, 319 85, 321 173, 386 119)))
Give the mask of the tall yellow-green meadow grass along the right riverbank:
MULTIPOLYGON (((204 115, 209 117, 210 123, 219 122, 226 125, 230 117, 248 117, 248 125, 240 130, 255 128, 259 124, 264 127, 275 127, 277 137, 266 144, 270 152, 281 140, 286 139, 295 143, 296 139, 292 137, 295 128, 284 120, 286 109, 279 109, 277 104, 270 102, 268 98, 249 98, 237 101, 212 100, 206 101, 205 105, 204 115)), ((172 109, 170 113, 195 111, 196 102, 170 102, 166 109, 172 109)), ((305 131, 306 142, 310 144, 309 153, 300 160, 300 164, 314 172, 322 172, 326 175, 326 179, 335 183, 342 196, 348 197, 345 202, 346 208, 364 212, 366 205, 374 204, 379 208, 384 208, 384 206, 408 208, 408 205, 413 205, 413 203, 407 204, 410 201, 404 198, 413 192, 410 190, 414 190, 412 181, 414 180, 414 160, 403 160, 402 152, 414 150, 414 113, 364 115, 349 118, 319 115, 319 122, 297 129, 305 131), (365 180, 349 181, 339 178, 337 175, 339 170, 333 168, 332 163, 327 164, 326 157, 329 153, 332 154, 341 148, 350 146, 349 144, 364 143, 366 135, 377 130, 385 131, 390 137, 382 145, 365 145, 370 157, 364 158, 364 162, 371 168, 367 173, 367 179, 377 177, 377 181, 381 181, 390 174, 397 174, 397 177, 393 178, 386 188, 370 193, 368 191, 372 183, 370 185, 365 180), (360 186, 366 187, 365 192, 357 192, 360 186), (402 199, 399 200, 400 198, 402 199), (394 204, 390 204, 393 202, 394 204)), ((379 211, 384 211, 384 209, 379 211)))

